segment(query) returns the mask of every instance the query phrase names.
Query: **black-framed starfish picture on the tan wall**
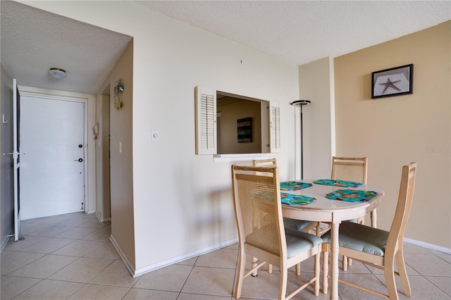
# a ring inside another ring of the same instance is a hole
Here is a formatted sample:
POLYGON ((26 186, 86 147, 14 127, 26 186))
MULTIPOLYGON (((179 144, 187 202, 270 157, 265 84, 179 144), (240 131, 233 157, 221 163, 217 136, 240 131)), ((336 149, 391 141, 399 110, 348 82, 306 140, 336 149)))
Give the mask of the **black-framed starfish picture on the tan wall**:
POLYGON ((414 64, 371 73, 371 99, 413 93, 414 64))

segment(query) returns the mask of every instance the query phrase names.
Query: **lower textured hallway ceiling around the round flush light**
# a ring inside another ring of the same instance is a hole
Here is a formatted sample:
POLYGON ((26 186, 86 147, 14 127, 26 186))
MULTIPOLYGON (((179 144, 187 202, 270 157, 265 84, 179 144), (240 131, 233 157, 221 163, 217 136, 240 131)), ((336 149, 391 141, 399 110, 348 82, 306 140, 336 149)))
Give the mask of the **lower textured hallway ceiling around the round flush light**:
POLYGON ((13 1, 0 10, 1 65, 20 85, 96 94, 132 39, 13 1))

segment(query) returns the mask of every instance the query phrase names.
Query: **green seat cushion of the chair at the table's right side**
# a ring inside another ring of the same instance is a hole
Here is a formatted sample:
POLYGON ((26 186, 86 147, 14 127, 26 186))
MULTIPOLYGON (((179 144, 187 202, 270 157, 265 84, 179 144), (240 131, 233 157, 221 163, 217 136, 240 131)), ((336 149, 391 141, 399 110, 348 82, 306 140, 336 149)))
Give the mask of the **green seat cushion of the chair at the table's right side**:
MULTIPOLYGON (((325 243, 330 244, 330 231, 321 238, 325 243)), ((388 232, 385 230, 352 222, 340 224, 340 236, 338 237, 340 247, 384 256, 387 239, 388 232)))

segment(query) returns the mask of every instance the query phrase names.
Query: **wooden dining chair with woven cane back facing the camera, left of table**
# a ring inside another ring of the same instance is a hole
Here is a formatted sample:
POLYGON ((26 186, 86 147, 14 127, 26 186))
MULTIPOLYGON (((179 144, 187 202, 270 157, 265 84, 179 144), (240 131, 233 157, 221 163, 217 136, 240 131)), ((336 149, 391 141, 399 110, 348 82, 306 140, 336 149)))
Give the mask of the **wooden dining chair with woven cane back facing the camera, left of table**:
POLYGON ((265 263, 280 268, 278 299, 290 299, 312 283, 318 296, 323 241, 316 235, 284 227, 278 168, 232 165, 232 182, 240 245, 235 298, 241 297, 243 280, 265 263), (258 258, 259 263, 246 272, 247 256, 258 258), (312 256, 314 276, 287 295, 288 268, 312 256))

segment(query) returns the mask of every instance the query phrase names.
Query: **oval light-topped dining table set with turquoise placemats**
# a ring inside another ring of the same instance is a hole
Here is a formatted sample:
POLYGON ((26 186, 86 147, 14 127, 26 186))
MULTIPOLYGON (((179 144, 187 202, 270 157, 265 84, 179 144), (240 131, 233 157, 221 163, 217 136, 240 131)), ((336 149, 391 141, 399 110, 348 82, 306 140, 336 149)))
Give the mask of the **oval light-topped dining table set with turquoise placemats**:
MULTIPOLYGON (((338 232, 340 229, 340 223, 342 221, 356 219, 362 215, 370 213, 371 227, 376 227, 376 207, 381 204, 381 199, 384 192, 382 189, 371 185, 361 185, 359 187, 340 187, 336 185, 319 185, 315 184, 314 181, 316 180, 300 180, 300 182, 310 183, 311 187, 280 191, 288 194, 314 197, 316 199, 316 201, 304 205, 282 204, 282 213, 286 218, 319 221, 330 225, 330 299, 339 299, 338 232), (333 193, 338 189, 373 191, 376 192, 377 195, 369 201, 359 202, 340 201, 326 198, 326 194, 333 193)), ((327 289, 328 282, 327 280, 324 280, 323 292, 327 291, 327 289)))

